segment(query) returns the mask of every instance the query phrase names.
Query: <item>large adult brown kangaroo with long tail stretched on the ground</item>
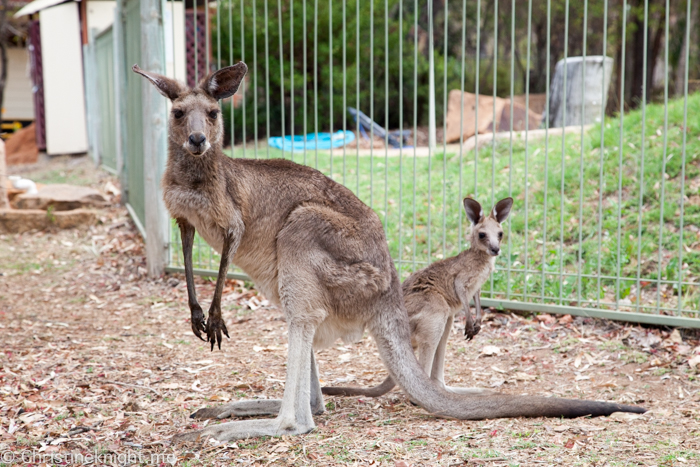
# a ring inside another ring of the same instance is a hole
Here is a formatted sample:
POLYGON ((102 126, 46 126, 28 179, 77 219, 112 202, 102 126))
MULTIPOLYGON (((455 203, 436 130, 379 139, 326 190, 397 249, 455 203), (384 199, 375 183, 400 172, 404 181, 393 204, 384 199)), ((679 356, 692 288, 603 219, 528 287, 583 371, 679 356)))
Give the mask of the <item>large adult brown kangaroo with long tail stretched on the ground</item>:
POLYGON ((277 415, 209 425, 175 441, 220 441, 307 433, 323 412, 314 349, 357 341, 366 329, 392 379, 426 410, 443 417, 578 417, 644 412, 606 402, 495 394, 468 397, 431 381, 411 349, 408 314, 379 217, 350 190, 321 172, 287 160, 232 159, 222 151, 217 101, 232 96, 244 63, 205 77, 194 89, 155 73, 147 78, 172 101, 163 197, 182 236, 192 331, 221 345, 227 335, 221 293, 235 263, 285 313, 289 349, 281 400, 234 402, 199 418, 277 415), (195 230, 221 253, 209 314, 197 302, 192 271, 195 230))

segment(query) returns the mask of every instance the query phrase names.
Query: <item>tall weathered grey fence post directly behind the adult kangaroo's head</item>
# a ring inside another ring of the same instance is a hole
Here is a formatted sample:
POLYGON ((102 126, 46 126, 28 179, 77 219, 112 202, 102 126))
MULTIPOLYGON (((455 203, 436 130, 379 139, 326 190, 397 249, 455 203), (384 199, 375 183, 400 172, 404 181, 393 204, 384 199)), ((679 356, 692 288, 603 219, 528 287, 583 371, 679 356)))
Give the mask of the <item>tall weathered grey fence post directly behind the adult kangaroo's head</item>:
MULTIPOLYGON (((148 71, 165 74, 165 33, 161 0, 141 0, 141 62, 148 71)), ((128 64, 133 65, 132 63, 128 64)), ((147 80, 142 81, 143 164, 148 275, 165 272, 168 255, 168 213, 163 204, 160 179, 166 158, 165 99, 147 80)))

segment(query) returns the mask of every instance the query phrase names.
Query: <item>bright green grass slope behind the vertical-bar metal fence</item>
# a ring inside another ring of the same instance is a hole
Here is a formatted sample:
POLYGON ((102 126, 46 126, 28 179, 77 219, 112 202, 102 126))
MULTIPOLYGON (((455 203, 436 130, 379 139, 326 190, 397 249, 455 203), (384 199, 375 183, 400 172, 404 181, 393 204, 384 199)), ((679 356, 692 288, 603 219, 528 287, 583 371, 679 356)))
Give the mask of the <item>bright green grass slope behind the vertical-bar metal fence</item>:
MULTIPOLYGON (((688 115, 698 112, 700 94, 691 95, 688 115)), ((540 139, 527 148, 522 140, 512 146, 499 141, 478 155, 438 150, 430 158, 413 157, 413 150, 406 149, 402 157, 385 157, 382 150, 357 156, 348 149, 345 157, 309 152, 305 158, 294 154, 293 160, 345 184, 377 212, 402 279, 465 248, 462 197, 475 196, 486 210, 510 195, 515 203, 504 225, 498 270, 482 289, 485 296, 567 305, 600 300, 601 307, 627 298, 634 307, 639 277, 640 288, 653 297, 643 306, 656 305, 655 281, 676 281, 670 297, 659 296, 662 306, 666 301, 675 308, 677 297, 672 296, 678 295, 681 274, 690 281, 700 273, 700 251, 689 248, 696 237, 688 229, 700 226, 700 205, 692 198, 700 193, 697 188, 690 192, 690 182, 700 175, 700 122, 688 118, 685 159, 682 124, 681 99, 669 102, 666 144, 660 136, 664 107, 654 104, 646 108, 644 138, 637 110, 624 116, 622 138, 619 119, 606 119, 602 145, 601 128, 594 126, 583 136, 565 138, 553 129, 547 144, 540 139), (683 171, 684 191, 691 198, 683 206, 686 248, 680 239, 683 171), (687 267, 681 269, 683 264, 687 267)), ((270 155, 292 158, 272 149, 270 155)), ((258 157, 267 157, 267 149, 259 150, 258 157)), ((179 238, 175 228, 173 235, 179 238)), ((216 270, 218 255, 201 239, 197 245, 195 267, 216 270)), ((176 264, 181 256, 179 249, 173 251, 176 264)), ((681 289, 682 308, 695 316, 697 286, 681 289)))

